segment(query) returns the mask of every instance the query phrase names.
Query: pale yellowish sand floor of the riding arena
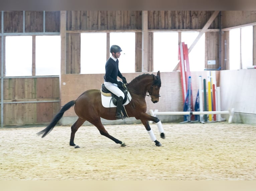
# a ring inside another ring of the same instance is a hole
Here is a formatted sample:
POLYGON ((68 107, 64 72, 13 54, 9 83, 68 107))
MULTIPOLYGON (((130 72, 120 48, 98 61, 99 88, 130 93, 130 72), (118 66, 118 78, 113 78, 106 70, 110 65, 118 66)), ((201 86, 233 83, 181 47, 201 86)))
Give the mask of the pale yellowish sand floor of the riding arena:
POLYGON ((120 147, 93 125, 75 136, 56 126, 0 129, 1 180, 256 180, 256 126, 163 123, 165 139, 151 124, 157 147, 142 124, 105 125, 120 147))

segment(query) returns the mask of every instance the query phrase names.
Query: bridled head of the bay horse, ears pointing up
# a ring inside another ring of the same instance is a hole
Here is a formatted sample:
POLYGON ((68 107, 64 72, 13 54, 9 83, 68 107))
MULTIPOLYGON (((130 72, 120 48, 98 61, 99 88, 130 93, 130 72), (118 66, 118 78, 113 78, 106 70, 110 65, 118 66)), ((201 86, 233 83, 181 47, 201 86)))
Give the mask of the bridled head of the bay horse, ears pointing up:
POLYGON ((157 103, 159 101, 160 87, 161 87, 161 78, 160 78, 160 72, 158 71, 156 76, 153 75, 153 83, 150 86, 150 89, 147 91, 153 103, 157 103))

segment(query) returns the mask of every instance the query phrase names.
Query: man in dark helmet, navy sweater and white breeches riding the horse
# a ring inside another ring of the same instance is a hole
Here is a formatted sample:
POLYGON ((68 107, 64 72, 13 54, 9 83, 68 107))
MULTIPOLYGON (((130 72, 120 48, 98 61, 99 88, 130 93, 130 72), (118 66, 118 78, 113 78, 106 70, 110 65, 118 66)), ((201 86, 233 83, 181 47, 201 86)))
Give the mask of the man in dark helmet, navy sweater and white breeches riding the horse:
POLYGON ((111 57, 107 60, 105 69, 106 73, 104 76, 105 87, 118 96, 117 108, 116 108, 116 119, 123 119, 121 114, 122 104, 124 100, 124 93, 119 89, 123 87, 123 83, 127 83, 125 77, 121 74, 118 68, 118 58, 120 57, 122 49, 117 45, 112 45, 110 47, 111 57), (117 77, 121 78, 123 83, 117 80, 117 77))

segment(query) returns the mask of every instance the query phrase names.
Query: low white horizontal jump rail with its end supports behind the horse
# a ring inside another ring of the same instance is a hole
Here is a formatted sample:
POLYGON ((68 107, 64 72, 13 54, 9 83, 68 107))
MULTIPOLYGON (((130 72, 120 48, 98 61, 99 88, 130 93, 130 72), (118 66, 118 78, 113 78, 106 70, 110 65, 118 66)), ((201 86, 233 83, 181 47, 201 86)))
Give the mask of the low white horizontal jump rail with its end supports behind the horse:
POLYGON ((149 110, 152 116, 156 115, 207 115, 207 114, 229 114, 228 123, 232 123, 232 118, 234 116, 234 108, 228 111, 153 111, 152 109, 149 110))

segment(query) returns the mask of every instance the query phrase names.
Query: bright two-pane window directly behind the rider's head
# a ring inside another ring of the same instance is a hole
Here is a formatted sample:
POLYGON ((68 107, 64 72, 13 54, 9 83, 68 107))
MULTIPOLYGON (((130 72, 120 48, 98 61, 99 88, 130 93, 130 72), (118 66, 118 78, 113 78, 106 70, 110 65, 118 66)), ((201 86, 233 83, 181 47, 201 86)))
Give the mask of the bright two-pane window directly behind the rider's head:
MULTIPOLYGON (((114 44, 122 49, 118 59, 120 72, 135 72, 135 33, 110 33, 110 46, 114 44)), ((106 61, 111 56, 106 47, 106 33, 81 34, 81 74, 105 73, 106 61)))

